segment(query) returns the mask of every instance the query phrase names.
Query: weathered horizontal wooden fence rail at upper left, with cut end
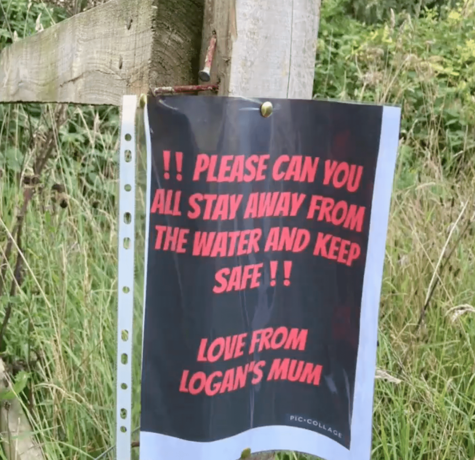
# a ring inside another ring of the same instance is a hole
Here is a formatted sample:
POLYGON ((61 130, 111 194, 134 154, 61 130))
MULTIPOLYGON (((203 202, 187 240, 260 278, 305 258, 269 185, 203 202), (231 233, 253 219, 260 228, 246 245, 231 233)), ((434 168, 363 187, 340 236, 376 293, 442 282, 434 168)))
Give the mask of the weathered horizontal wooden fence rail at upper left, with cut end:
POLYGON ((194 84, 202 0, 111 0, 0 53, 0 102, 120 105, 150 86, 194 84))

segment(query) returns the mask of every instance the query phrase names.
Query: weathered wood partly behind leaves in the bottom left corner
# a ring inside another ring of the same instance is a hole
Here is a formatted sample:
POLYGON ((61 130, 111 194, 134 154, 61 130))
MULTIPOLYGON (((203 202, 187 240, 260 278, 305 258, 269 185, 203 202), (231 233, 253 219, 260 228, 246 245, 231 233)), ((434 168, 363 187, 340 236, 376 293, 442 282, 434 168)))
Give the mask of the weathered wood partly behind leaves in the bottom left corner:
MULTIPOLYGON (((0 390, 8 388, 10 388, 8 376, 0 359, 0 390)), ((3 452, 8 460, 45 460, 17 398, 2 402, 0 434, 3 452)))

